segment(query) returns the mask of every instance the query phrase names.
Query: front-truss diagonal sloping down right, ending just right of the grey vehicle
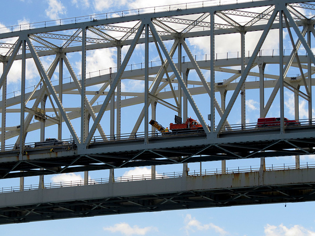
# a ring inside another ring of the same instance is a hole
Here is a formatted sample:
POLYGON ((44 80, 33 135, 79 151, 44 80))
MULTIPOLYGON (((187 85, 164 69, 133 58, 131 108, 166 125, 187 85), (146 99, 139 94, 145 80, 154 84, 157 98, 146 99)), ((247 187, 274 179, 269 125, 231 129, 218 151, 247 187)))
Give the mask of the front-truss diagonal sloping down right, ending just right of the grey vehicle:
POLYGON ((65 112, 65 110, 63 108, 63 104, 61 103, 61 101, 59 99, 59 96, 57 95, 57 92, 56 92, 53 84, 50 81, 49 76, 47 75, 47 73, 46 73, 46 71, 45 71, 45 69, 44 69, 44 67, 43 67, 43 65, 42 65, 42 63, 41 63, 41 61, 40 61, 40 59, 39 59, 39 57, 38 57, 34 47, 33 47, 33 45, 32 45, 32 42, 30 41, 29 38, 27 38, 26 41, 27 41, 27 43, 28 43, 28 45, 30 47, 30 51, 31 51, 32 57, 33 57, 33 59, 35 61, 35 64, 39 68, 39 70, 40 70, 40 72, 41 72, 41 74, 42 74, 42 76, 44 78, 44 81, 45 81, 46 85, 48 86, 51 94, 53 95, 53 97, 54 97, 54 99, 55 99, 55 101, 57 103, 59 111, 60 111, 60 113, 63 116, 64 122, 67 124, 68 129, 69 129, 73 139, 75 140, 75 142, 77 144, 79 144, 80 142, 79 142, 78 136, 77 136, 77 134, 76 134, 72 124, 71 124, 71 121, 70 121, 68 115, 66 114, 66 112, 65 112))

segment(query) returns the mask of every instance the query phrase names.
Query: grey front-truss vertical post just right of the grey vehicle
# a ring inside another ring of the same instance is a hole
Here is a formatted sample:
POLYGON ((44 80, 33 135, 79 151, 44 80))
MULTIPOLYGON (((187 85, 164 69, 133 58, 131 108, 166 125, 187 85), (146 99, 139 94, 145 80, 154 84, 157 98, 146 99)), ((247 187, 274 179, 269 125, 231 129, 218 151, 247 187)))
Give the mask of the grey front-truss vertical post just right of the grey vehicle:
POLYGON ((81 144, 85 142, 86 138, 86 105, 85 105, 85 96, 86 96, 86 59, 87 59, 87 51, 86 51, 86 37, 87 37, 87 29, 82 28, 82 75, 81 75, 81 144))

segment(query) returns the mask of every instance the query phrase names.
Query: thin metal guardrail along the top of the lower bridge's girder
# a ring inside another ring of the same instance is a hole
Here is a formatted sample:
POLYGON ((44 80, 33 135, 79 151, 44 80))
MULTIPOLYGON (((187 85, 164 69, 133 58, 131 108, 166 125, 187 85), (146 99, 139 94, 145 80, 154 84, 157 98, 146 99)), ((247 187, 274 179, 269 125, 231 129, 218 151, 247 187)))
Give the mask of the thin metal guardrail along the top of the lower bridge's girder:
MULTIPOLYGON (((271 164, 266 166, 265 171, 279 171, 279 170, 293 170, 293 169, 308 169, 315 168, 315 162, 305 162, 299 165, 299 168, 296 168, 295 163, 289 164, 271 164)), ((224 175, 224 174, 234 174, 234 173, 246 173, 246 172, 258 172, 260 169, 259 165, 255 166, 245 166, 245 167, 232 167, 226 168, 225 171, 222 169, 205 169, 205 170, 193 170, 188 172, 188 176, 210 176, 210 175, 224 175)), ((168 172, 162 174, 155 174, 152 176, 148 175, 137 175, 137 176, 121 176, 115 177, 115 182, 129 182, 129 181, 143 181, 150 179, 163 179, 163 178, 176 178, 182 177, 183 172, 168 172)), ((82 186, 82 185, 91 185, 91 184, 102 184, 110 182, 109 178, 95 178, 89 179, 87 183, 83 179, 76 181, 65 181, 65 182, 53 182, 44 184, 44 188, 62 188, 62 187, 71 187, 71 186, 82 186)), ((12 187, 2 187, 0 188, 0 193, 9 193, 9 192, 19 192, 19 191, 28 191, 28 190, 37 190, 39 189, 38 184, 29 184, 25 185, 24 189, 21 190, 19 186, 12 187)))

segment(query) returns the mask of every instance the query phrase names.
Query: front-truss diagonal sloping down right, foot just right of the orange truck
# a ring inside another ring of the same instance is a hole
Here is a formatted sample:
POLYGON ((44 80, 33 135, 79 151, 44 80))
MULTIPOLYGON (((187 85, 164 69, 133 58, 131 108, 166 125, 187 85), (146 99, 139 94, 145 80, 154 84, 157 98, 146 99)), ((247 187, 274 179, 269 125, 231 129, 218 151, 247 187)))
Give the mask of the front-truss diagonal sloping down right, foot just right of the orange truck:
POLYGON ((158 35, 158 32, 157 30, 155 29, 154 25, 152 24, 152 22, 149 23, 149 26, 151 28, 151 32, 152 34, 156 37, 157 41, 158 41, 158 44, 160 46, 160 48, 162 49, 163 53, 164 53, 164 56, 167 58, 168 62, 169 62, 169 65, 171 66, 174 74, 176 75, 177 77, 177 80, 179 81, 179 84, 181 85, 182 89, 184 90, 184 93, 185 95, 187 96, 188 100, 189 100, 189 103, 193 109, 193 111, 195 112, 196 116, 198 117, 200 123, 202 124, 202 127, 203 129, 205 130, 205 132, 207 134, 210 133, 209 131, 209 128, 208 128, 208 125, 206 124, 205 120, 203 119, 198 107, 196 106, 186 84, 185 84, 185 81, 183 80, 182 76, 180 75, 174 61, 172 60, 172 58, 170 57, 162 39, 160 38, 160 36, 158 35))

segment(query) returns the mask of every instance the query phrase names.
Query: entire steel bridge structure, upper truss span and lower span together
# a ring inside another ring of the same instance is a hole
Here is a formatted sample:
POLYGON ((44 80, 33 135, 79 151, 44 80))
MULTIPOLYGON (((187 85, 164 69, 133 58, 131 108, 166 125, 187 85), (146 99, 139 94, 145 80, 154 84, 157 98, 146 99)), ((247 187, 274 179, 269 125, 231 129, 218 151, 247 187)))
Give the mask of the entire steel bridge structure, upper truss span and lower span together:
POLYGON ((314 169, 301 169, 299 161, 315 153, 314 10, 312 1, 204 1, 0 29, 0 178, 20 177, 21 190, 0 194, 0 224, 314 201, 314 169), (238 40, 229 41, 235 35, 238 40), (268 35, 279 45, 269 53, 268 35), (198 39, 209 46, 202 58, 190 50, 198 39), (226 51, 233 43, 240 53, 222 57, 217 45, 224 40, 226 51), (115 59, 115 66, 91 73, 94 52, 115 59), (16 61, 17 94, 9 90, 16 61), (30 89, 32 68, 36 85, 30 89), (285 92, 294 97, 294 118, 306 118, 301 125, 284 123, 285 92), (246 103, 252 100, 260 118, 279 111, 280 126, 247 124, 246 103), (299 101, 307 104, 306 115, 299 101), (159 135, 148 124, 167 117, 157 111, 193 115, 204 132, 159 135), (124 115, 135 118, 126 122, 124 115), (60 140, 71 135, 71 141, 53 151, 33 146, 52 132, 60 140), (265 158, 274 156, 295 156, 295 169, 266 171, 265 158), (249 158, 260 159, 259 171, 225 173, 226 160, 249 158), (221 175, 187 174, 190 162, 218 160, 221 175), (156 179, 155 166, 168 164, 183 164, 183 175, 156 179), (114 169, 138 166, 152 167, 150 180, 114 181, 114 169), (110 170, 110 182, 89 184, 88 171, 94 170, 110 170), (86 185, 44 188, 44 176, 71 172, 85 172, 86 185), (24 177, 30 176, 39 176, 38 189, 23 191, 24 177))

